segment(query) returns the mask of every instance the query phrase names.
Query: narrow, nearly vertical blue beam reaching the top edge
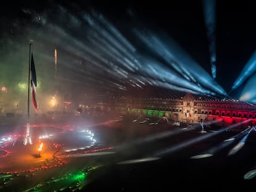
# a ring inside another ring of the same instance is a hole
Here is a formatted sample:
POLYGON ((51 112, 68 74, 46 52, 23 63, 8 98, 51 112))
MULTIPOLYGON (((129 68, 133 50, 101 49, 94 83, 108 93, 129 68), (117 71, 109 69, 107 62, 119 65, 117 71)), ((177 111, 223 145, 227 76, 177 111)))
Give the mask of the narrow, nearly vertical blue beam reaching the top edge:
POLYGON ((207 28, 207 37, 209 41, 211 75, 213 79, 216 78, 216 42, 215 42, 215 28, 216 28, 216 0, 203 0, 203 14, 205 19, 205 26, 207 28))

